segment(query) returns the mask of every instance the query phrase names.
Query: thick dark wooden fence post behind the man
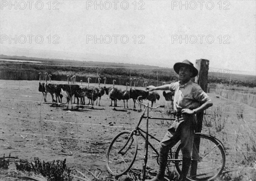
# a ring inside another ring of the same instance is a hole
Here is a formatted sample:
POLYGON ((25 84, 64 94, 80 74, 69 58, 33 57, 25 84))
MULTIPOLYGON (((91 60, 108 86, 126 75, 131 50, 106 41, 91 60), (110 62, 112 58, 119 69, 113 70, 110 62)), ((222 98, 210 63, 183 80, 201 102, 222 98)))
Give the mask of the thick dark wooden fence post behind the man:
MULTIPOLYGON (((209 60, 207 60, 207 59, 196 60, 195 68, 198 69, 198 75, 195 77, 195 82, 201 86, 201 88, 203 89, 204 92, 207 92, 209 60)), ((196 117, 197 117, 198 124, 195 129, 195 133, 201 133, 204 112, 197 113, 196 117)), ((195 175, 197 175, 198 161, 196 161, 197 154, 194 154, 194 153, 199 153, 198 150, 199 150, 199 145, 200 145, 200 139, 195 138, 194 144, 195 144, 195 148, 193 148, 193 151, 192 151, 192 158, 195 158, 195 160, 193 160, 191 162, 191 170, 190 170, 191 177, 195 177, 195 175)))

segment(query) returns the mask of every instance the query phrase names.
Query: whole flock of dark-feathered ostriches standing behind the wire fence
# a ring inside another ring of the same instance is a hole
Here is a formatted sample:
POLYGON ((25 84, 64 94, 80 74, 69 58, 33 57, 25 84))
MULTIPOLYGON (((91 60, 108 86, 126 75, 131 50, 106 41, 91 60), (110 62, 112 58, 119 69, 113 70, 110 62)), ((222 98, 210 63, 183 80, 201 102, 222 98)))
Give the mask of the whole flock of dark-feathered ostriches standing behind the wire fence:
MULTIPOLYGON (((135 107, 135 102, 139 96, 140 97, 140 102, 143 101, 143 99, 148 99, 151 101, 151 107, 153 106, 153 103, 156 102, 156 100, 160 99, 160 95, 157 92, 147 92, 143 91, 140 89, 136 89, 136 78, 130 79, 130 88, 128 89, 129 83, 126 82, 126 90, 121 90, 120 88, 115 87, 115 82, 116 80, 113 80, 113 86, 111 87, 106 87, 106 77, 104 81, 104 87, 100 86, 100 80, 101 78, 98 78, 99 85, 98 86, 92 86, 90 85, 90 80, 91 78, 88 78, 87 85, 83 85, 82 80, 80 81, 81 84, 78 85, 76 84, 76 76, 70 77, 67 75, 67 84, 58 84, 58 83, 51 83, 51 75, 45 73, 45 82, 41 83, 41 73, 39 73, 39 88, 38 91, 43 93, 44 96, 44 102, 47 102, 47 93, 50 93, 52 96, 52 103, 59 105, 62 103, 62 98, 63 96, 67 98, 67 109, 69 107, 69 103, 71 102, 71 110, 73 110, 73 105, 72 105, 72 97, 74 96, 74 103, 75 99, 77 100, 76 104, 78 105, 78 108, 81 105, 85 105, 85 97, 89 99, 89 104, 94 105, 94 102, 99 98, 99 106, 100 106, 100 99, 101 97, 106 94, 109 95, 109 98, 111 99, 111 105, 112 106, 112 101, 114 102, 114 109, 117 107, 117 100, 123 100, 124 102, 124 107, 125 107, 125 100, 126 100, 126 107, 128 108, 128 100, 133 99, 134 101, 134 108, 135 107), (47 82, 47 77, 49 79, 49 82, 47 82), (134 80, 134 87, 131 87, 132 80, 134 80), (54 99, 54 94, 55 94, 55 99, 54 99), (80 104, 79 104, 79 99, 80 99, 80 104)), ((144 82, 143 85, 145 84, 145 87, 147 86, 148 82, 144 82)), ((165 97, 166 101, 173 101, 173 96, 174 92, 169 92, 166 93, 163 91, 163 96, 165 97)), ((97 105, 96 102, 96 105, 97 105)))

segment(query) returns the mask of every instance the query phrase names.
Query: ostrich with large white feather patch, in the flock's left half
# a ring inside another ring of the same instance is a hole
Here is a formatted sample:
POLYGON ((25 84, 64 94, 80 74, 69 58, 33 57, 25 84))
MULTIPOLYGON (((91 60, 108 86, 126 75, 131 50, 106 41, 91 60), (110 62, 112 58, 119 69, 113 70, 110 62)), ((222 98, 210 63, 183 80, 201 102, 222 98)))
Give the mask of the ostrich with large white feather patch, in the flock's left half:
MULTIPOLYGON (((79 91, 81 88, 79 85, 71 85, 69 84, 69 75, 67 75, 67 83, 61 85, 61 94, 67 97, 67 109, 69 107, 69 102, 71 101, 72 104, 72 96, 79 91)), ((73 105, 71 105, 71 110, 73 110, 73 105)))

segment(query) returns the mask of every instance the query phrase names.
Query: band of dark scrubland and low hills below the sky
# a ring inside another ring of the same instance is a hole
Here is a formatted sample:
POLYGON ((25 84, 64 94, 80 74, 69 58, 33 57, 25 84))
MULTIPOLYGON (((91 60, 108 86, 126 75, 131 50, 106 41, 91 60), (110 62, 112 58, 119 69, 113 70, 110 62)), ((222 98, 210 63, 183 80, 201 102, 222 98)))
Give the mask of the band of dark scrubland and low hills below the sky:
MULTIPOLYGON (((80 76, 84 82, 89 76, 95 79, 93 82, 97 81, 97 77, 107 77, 107 83, 111 84, 112 80, 116 79, 119 85, 125 85, 131 77, 137 77, 137 84, 141 86, 144 81, 148 81, 150 85, 161 85, 162 82, 168 83, 178 79, 172 68, 151 65, 7 56, 3 54, 0 55, 0 59, 0 62, 6 62, 4 59, 33 61, 28 62, 28 64, 20 62, 18 64, 1 64, 1 79, 35 80, 38 79, 39 72, 48 72, 52 74, 52 78, 55 80, 64 80, 66 75, 80 76)), ((212 71, 209 71, 208 83, 229 85, 230 76, 231 85, 256 87, 256 76, 212 71)))

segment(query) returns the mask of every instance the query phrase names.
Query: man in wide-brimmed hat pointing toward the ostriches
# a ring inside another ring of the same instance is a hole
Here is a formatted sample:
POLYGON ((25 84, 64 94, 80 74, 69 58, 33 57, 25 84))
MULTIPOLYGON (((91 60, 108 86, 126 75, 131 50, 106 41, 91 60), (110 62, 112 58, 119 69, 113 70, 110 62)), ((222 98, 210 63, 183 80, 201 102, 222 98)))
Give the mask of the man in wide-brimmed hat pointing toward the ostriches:
POLYGON ((197 124, 195 114, 212 106, 212 100, 209 96, 197 83, 191 80, 192 77, 197 76, 198 70, 189 60, 186 59, 183 62, 175 63, 173 68, 179 74, 178 82, 159 87, 152 85, 147 87, 148 91, 175 91, 174 110, 177 113, 175 122, 160 142, 159 171, 157 176, 148 181, 164 181, 168 152, 179 140, 182 144, 181 151, 183 155, 179 181, 185 181, 190 167, 194 132, 197 124))

